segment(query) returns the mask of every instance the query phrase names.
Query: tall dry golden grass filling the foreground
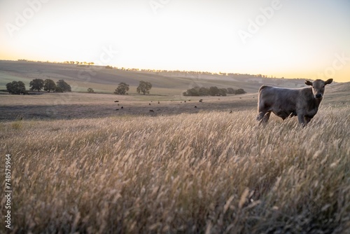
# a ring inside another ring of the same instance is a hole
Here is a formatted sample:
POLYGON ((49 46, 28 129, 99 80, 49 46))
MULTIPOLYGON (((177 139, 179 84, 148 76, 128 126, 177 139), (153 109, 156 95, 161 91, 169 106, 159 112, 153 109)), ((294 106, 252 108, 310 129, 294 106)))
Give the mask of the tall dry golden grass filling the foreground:
POLYGON ((13 233, 346 233, 349 111, 1 123, 13 233))

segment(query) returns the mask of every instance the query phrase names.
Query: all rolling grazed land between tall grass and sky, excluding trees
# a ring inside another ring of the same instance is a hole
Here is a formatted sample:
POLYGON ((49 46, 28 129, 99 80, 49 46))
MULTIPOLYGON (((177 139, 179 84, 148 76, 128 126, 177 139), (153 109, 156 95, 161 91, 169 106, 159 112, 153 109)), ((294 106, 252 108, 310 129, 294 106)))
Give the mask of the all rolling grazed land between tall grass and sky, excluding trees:
MULTIPOLYGON (((290 88, 304 87, 304 79, 258 78, 250 75, 196 74, 181 71, 125 71, 71 64, 0 61, 0 89, 6 83, 23 81, 29 89, 34 78, 64 79, 74 92, 44 95, 0 95, 0 120, 16 118, 87 118, 125 115, 163 115, 199 111, 256 110, 257 92, 262 84, 290 88), (138 95, 139 81, 153 84, 151 95, 138 95), (113 95, 118 83, 130 84, 129 95, 113 95), (245 95, 227 97, 185 97, 182 92, 194 86, 243 88, 245 95), (86 93, 93 88, 94 94, 86 93), (116 99, 120 100, 117 104, 116 99), (198 102, 204 99, 203 102, 198 102), (160 103, 158 103, 160 102, 160 103), (122 109, 123 106, 123 109, 122 109), (153 112, 150 112, 153 110, 153 112)), ((350 83, 332 83, 325 90, 323 106, 348 106, 350 83)), ((7 94, 7 92, 3 92, 7 94)))

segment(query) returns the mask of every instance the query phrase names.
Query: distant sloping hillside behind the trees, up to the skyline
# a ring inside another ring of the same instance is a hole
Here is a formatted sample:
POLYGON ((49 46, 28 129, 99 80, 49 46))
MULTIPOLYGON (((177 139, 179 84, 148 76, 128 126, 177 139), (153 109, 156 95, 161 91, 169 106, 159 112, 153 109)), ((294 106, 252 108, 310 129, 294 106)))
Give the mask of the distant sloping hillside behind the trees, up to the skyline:
POLYGON ((136 93, 139 81, 149 81, 153 85, 153 95, 181 95, 183 91, 195 86, 243 88, 248 93, 257 92, 262 84, 290 88, 304 86, 304 79, 260 78, 248 74, 136 71, 49 62, 0 61, 1 90, 6 89, 6 83, 11 81, 23 81, 28 89, 29 82, 34 78, 50 78, 55 82, 64 79, 76 92, 86 92, 87 88, 93 88, 95 92, 111 93, 118 83, 125 82, 130 85, 130 94, 136 93))

